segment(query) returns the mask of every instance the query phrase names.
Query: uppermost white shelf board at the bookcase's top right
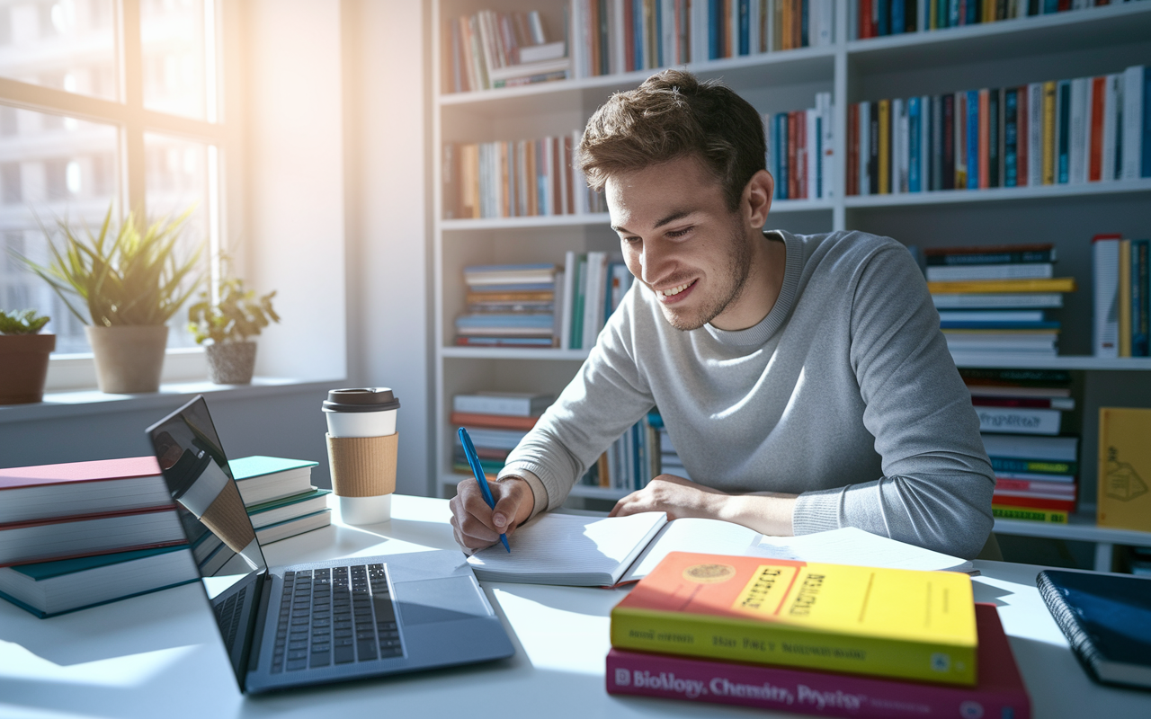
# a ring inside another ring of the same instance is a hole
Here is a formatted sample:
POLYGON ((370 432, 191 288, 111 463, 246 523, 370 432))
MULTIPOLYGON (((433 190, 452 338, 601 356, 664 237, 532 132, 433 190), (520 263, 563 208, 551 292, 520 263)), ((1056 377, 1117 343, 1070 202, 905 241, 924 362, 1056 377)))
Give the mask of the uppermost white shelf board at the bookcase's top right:
POLYGON ((1151 37, 1151 6, 1114 3, 847 43, 854 70, 878 74, 906 70, 909 63, 942 67, 1042 55, 1070 47, 1111 47, 1151 37))

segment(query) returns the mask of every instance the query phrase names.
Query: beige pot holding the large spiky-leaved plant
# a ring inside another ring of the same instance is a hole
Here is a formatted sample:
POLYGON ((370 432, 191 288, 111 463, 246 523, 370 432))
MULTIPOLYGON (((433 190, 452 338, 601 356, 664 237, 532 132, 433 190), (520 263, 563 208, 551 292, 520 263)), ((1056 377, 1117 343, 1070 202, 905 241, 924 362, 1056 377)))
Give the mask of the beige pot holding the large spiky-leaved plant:
POLYGON ((101 392, 134 395, 160 389, 167 324, 85 327, 101 392))

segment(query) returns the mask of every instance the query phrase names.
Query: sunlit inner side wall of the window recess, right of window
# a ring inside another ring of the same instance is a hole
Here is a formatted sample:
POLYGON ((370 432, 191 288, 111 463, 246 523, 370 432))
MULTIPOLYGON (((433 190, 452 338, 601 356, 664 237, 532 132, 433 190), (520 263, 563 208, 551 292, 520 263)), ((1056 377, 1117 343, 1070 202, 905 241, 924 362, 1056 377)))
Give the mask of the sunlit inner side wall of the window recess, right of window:
POLYGON ((346 376, 340 0, 246 0, 245 278, 276 290, 257 374, 346 376))

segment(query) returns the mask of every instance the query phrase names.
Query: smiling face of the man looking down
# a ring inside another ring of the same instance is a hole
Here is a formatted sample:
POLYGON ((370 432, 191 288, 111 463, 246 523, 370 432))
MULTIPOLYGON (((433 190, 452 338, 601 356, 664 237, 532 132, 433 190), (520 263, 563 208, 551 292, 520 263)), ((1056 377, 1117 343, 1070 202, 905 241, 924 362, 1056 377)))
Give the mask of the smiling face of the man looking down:
POLYGON ((731 314, 752 265, 739 212, 695 158, 680 158, 609 177, 611 228, 627 269, 656 295, 664 318, 680 330, 731 314))

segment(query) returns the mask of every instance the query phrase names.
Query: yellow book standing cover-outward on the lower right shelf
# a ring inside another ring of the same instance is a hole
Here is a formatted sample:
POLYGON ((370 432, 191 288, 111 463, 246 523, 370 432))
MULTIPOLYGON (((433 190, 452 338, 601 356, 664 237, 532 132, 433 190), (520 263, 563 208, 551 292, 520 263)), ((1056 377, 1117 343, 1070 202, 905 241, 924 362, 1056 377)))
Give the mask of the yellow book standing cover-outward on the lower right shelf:
POLYGON ((1151 410, 1099 407, 1099 526, 1151 531, 1151 410))

